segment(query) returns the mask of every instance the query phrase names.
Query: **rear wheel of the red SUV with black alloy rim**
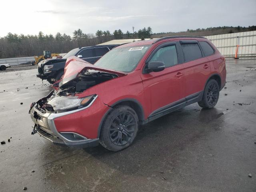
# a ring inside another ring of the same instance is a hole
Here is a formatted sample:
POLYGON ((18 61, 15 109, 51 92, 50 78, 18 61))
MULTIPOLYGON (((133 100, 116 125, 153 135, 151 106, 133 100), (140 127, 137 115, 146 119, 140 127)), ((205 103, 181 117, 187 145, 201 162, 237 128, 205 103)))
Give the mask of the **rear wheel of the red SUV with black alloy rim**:
POLYGON ((220 88, 218 82, 211 79, 207 82, 204 88, 204 94, 202 100, 198 102, 198 105, 204 109, 213 108, 219 99, 220 88))

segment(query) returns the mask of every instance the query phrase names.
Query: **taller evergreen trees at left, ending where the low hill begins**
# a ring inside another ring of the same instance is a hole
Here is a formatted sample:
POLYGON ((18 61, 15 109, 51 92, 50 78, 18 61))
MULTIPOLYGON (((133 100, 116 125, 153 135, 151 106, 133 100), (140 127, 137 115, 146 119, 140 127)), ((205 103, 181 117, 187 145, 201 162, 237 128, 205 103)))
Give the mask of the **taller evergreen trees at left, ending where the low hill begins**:
MULTIPOLYGON (((134 28, 133 28, 134 29, 134 28)), ((42 55, 43 50, 52 50, 53 53, 66 53, 78 47, 92 46, 113 39, 150 38, 152 28, 142 28, 138 32, 122 30, 97 30, 96 34, 86 34, 81 29, 75 30, 73 36, 57 32, 56 35, 44 34, 40 31, 37 35, 24 35, 8 33, 0 38, 0 58, 26 57, 42 55)))

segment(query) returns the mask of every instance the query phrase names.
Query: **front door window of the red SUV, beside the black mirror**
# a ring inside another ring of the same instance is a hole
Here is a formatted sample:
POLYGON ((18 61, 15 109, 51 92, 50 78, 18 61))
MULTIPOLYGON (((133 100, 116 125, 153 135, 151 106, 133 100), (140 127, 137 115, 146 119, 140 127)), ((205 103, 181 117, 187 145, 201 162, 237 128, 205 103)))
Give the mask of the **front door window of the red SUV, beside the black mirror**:
POLYGON ((178 64, 176 46, 170 45, 160 48, 150 59, 151 61, 162 61, 166 68, 178 64))

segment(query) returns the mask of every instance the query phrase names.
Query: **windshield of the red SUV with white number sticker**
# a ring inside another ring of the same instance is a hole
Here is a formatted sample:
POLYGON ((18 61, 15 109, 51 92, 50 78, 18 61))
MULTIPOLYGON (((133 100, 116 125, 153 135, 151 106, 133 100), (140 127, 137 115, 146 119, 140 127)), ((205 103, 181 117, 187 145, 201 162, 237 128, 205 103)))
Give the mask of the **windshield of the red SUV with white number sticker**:
POLYGON ((132 72, 150 46, 151 45, 114 48, 94 65, 126 73, 132 72))

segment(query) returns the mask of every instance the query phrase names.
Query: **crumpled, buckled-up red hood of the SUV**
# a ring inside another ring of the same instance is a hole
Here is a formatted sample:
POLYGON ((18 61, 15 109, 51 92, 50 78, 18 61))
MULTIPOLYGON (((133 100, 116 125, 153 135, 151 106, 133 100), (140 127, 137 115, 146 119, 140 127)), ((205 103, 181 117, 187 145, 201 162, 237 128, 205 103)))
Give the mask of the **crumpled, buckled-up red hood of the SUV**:
POLYGON ((82 72, 83 70, 87 70, 87 69, 117 74, 118 76, 126 75, 125 72, 107 69, 107 68, 103 68, 100 66, 94 66, 93 64, 90 64, 76 56, 71 56, 66 61, 66 65, 64 68, 64 75, 62 76, 62 78, 60 80, 59 87, 74 80, 75 78, 77 78, 77 76, 78 76, 78 74, 80 74, 80 72, 82 72))

